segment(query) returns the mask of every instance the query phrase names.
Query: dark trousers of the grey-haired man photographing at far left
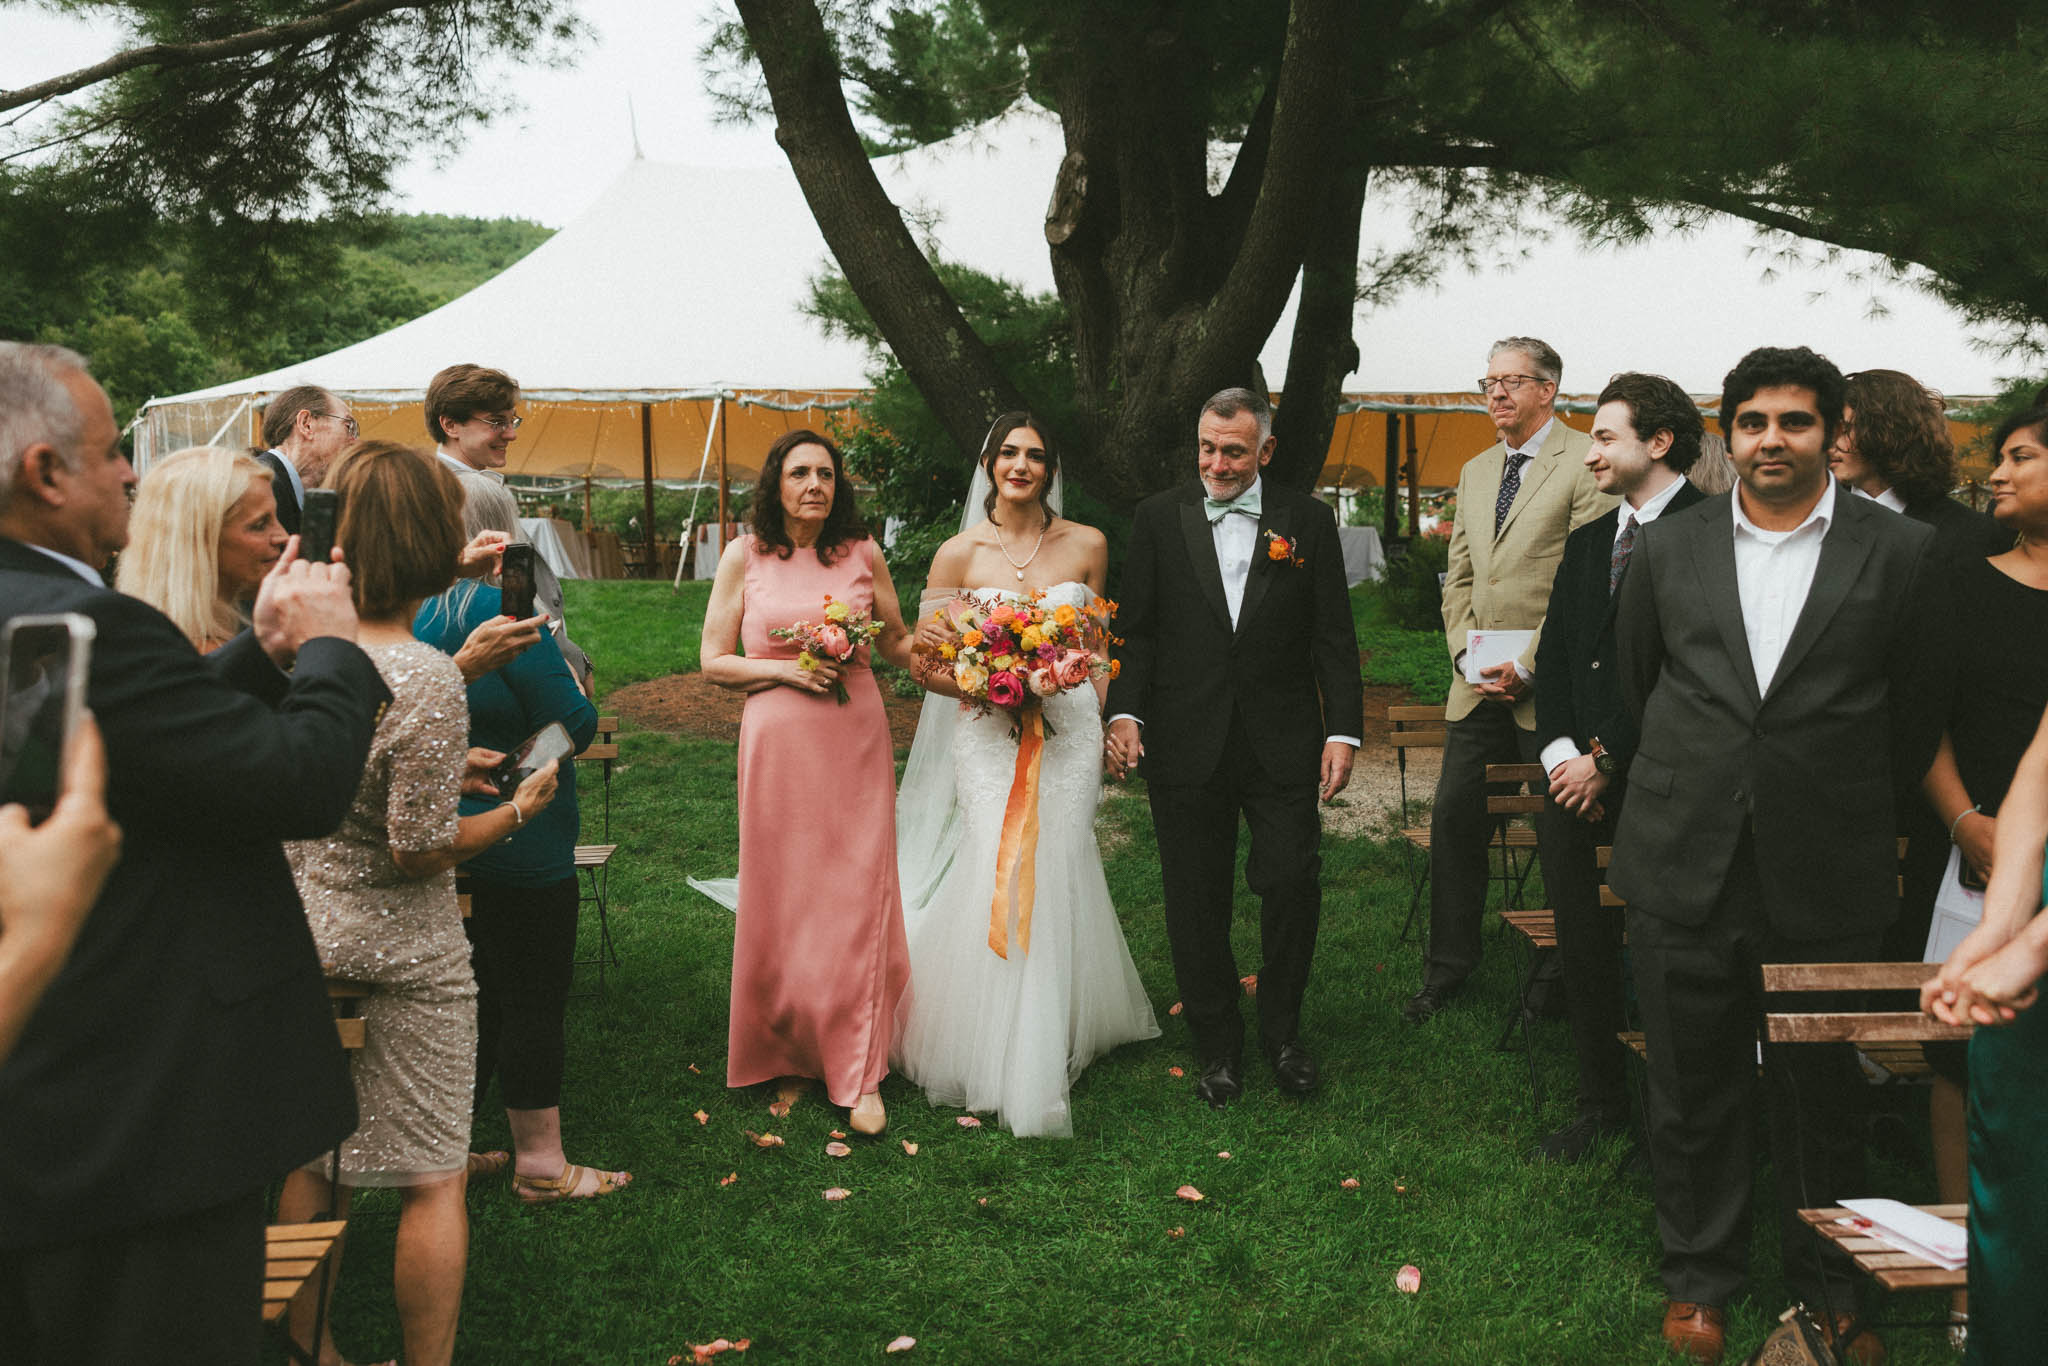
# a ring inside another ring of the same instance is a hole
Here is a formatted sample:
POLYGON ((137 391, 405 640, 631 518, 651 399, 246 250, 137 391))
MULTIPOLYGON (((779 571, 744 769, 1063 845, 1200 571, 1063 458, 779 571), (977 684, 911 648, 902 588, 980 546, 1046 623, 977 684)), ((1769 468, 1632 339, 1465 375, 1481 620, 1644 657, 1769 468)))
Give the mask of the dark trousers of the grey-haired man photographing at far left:
POLYGON ((262 1194, 250 1192, 78 1243, 0 1251, 0 1362, 256 1366, 262 1225, 262 1194))

